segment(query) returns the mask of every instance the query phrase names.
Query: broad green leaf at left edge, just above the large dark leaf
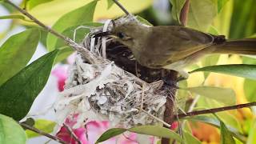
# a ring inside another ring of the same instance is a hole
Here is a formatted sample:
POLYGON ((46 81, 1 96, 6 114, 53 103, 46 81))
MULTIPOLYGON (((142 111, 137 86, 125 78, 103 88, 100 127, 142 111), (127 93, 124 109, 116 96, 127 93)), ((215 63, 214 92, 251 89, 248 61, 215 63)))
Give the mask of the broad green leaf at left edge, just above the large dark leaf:
POLYGON ((38 46, 38 29, 14 34, 0 47, 0 86, 17 74, 32 58, 38 46))

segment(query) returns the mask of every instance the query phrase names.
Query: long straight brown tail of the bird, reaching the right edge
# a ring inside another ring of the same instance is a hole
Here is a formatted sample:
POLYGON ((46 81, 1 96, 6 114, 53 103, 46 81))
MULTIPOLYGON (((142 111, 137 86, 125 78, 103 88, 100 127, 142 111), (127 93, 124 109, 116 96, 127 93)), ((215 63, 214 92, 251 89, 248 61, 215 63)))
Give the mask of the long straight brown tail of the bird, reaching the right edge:
POLYGON ((214 53, 218 54, 256 54, 256 38, 226 40, 217 44, 214 53))

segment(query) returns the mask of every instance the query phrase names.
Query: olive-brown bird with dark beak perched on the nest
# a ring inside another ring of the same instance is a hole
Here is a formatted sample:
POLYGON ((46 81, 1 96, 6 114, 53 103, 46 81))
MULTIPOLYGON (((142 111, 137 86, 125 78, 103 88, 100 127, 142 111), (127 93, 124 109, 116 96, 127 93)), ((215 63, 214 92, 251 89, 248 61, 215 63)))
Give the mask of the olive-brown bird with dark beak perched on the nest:
POLYGON ((206 54, 256 54, 256 39, 226 40, 184 26, 145 26, 132 21, 110 31, 112 38, 128 46, 134 58, 149 68, 183 70, 206 54))

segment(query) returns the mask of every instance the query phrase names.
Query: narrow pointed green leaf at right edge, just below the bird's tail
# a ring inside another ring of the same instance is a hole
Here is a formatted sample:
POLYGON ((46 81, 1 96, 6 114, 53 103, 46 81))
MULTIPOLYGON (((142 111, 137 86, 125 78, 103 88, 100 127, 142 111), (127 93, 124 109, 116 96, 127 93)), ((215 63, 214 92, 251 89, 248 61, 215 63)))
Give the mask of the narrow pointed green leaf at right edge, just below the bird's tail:
POLYGON ((214 73, 230 74, 238 77, 256 80, 256 65, 234 64, 234 65, 218 65, 206 66, 193 70, 190 73, 198 71, 209 71, 214 73))

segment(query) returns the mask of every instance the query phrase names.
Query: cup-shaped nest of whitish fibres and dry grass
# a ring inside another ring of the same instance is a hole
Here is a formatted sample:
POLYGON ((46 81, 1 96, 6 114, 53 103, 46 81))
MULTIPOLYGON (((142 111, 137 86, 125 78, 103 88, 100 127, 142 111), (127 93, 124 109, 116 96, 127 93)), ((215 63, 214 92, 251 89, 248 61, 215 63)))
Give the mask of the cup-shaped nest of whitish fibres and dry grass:
MULTIPOLYGON (((138 22, 128 16, 115 20, 115 24, 130 21, 138 22)), ((140 66, 130 50, 111 38, 93 38, 111 30, 112 25, 107 21, 90 29, 84 41, 76 45, 78 54, 54 105, 59 124, 66 118, 76 118, 74 127, 85 125, 87 120, 108 120, 112 126, 122 127, 162 122, 170 95, 160 78, 162 71, 140 66)))

